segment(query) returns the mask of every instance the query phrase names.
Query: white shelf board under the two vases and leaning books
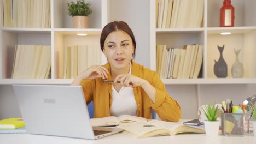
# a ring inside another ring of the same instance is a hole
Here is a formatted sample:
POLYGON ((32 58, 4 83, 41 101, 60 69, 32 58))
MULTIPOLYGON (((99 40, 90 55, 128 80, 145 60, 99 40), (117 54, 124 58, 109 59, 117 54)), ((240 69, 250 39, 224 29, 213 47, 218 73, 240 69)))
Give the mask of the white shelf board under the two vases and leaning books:
POLYGON ((161 79, 165 85, 256 84, 256 79, 161 79))

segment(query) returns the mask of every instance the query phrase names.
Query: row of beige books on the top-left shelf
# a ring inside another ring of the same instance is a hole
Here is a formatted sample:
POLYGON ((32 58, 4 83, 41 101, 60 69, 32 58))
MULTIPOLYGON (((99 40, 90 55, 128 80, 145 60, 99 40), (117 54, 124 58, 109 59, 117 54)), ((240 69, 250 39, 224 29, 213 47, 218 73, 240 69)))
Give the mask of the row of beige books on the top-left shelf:
POLYGON ((50 28, 50 0, 3 0, 3 26, 50 28))

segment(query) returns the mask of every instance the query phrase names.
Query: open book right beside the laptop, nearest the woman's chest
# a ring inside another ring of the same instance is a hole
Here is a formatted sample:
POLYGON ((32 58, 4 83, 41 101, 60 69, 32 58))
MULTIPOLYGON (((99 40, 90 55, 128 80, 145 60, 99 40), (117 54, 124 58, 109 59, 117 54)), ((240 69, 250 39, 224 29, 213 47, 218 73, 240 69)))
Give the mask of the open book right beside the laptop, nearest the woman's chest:
POLYGON ((120 117, 103 117, 103 118, 91 118, 92 126, 115 126, 129 122, 147 122, 146 118, 136 117, 130 115, 122 115, 120 117))

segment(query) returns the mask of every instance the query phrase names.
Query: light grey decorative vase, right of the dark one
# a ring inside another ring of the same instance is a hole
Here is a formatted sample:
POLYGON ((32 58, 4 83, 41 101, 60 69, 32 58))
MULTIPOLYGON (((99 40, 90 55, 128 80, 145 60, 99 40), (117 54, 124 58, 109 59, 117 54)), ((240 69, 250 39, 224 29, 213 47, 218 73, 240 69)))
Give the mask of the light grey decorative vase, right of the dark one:
POLYGON ((240 51, 241 51, 240 49, 239 50, 234 49, 234 52, 236 53, 236 61, 231 68, 231 73, 233 77, 243 77, 243 64, 239 61, 239 58, 238 58, 240 51))

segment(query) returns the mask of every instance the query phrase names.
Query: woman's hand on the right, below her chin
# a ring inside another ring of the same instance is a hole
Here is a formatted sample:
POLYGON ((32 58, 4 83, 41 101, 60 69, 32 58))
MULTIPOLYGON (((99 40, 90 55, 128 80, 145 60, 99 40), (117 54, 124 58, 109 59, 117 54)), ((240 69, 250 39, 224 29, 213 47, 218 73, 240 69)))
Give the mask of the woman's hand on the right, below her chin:
POLYGON ((117 81, 120 81, 120 84, 124 87, 138 87, 141 86, 143 83, 147 82, 146 80, 131 74, 118 75, 117 77, 115 77, 114 82, 117 81))

